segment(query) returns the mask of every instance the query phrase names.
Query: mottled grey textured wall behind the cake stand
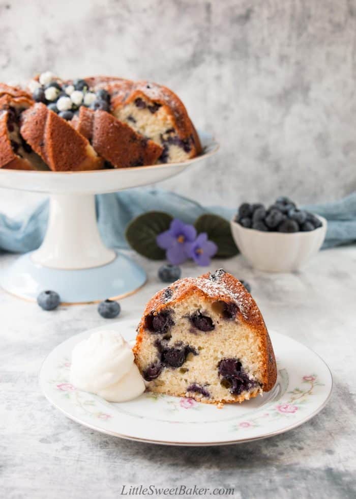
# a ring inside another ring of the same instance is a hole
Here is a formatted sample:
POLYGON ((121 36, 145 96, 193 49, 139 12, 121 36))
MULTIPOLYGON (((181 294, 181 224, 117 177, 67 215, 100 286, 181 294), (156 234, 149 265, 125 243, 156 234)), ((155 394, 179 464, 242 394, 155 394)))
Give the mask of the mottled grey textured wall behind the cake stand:
POLYGON ((15 0, 0 2, 0 33, 0 80, 51 69, 176 91, 221 151, 166 188, 235 206, 356 187, 353 0, 15 0))

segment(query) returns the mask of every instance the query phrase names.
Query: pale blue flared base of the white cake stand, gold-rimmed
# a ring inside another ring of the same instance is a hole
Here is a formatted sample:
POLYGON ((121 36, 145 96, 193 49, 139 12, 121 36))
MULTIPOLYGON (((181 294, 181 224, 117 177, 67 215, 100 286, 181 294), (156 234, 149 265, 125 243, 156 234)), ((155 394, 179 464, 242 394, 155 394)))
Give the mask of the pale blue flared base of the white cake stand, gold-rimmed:
POLYGON ((130 258, 116 258, 101 267, 62 270, 35 263, 32 253, 19 257, 0 276, 5 291, 35 301, 41 291, 56 291, 64 304, 119 299, 137 291, 146 282, 145 271, 130 258))

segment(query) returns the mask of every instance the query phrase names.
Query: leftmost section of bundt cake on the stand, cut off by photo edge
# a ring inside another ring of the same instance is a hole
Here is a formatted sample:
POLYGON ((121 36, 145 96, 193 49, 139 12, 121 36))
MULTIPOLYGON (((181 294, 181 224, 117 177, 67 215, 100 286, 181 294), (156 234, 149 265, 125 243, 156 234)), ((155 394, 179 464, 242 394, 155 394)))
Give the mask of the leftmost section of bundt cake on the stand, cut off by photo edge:
POLYGON ((0 85, 0 168, 48 170, 19 132, 19 117, 32 104, 20 89, 0 85))

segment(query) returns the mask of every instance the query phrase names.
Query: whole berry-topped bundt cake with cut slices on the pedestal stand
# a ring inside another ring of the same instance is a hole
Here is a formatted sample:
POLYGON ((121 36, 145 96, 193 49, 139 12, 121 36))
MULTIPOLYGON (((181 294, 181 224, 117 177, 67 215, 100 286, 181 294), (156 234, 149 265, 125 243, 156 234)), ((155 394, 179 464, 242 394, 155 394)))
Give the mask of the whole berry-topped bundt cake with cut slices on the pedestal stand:
POLYGON ((27 92, 0 84, 2 109, 8 114, 1 116, 0 168, 127 168, 185 161, 201 152, 182 101, 148 81, 65 81, 46 71, 27 92), (2 107, 3 98, 18 105, 2 107))

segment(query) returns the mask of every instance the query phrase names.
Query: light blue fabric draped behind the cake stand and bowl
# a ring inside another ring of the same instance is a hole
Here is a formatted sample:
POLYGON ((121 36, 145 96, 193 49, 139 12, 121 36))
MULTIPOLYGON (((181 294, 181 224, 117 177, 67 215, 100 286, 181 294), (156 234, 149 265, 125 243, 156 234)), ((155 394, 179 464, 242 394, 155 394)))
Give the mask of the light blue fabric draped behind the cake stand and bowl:
MULTIPOLYGON (((191 199, 154 188, 129 189, 97 196, 99 230, 107 246, 127 248, 125 229, 130 220, 146 211, 165 211, 187 223, 203 213, 230 219, 236 209, 203 207, 191 199)), ((356 192, 339 201, 304 206, 328 220, 323 248, 356 242, 356 192)), ((48 201, 18 219, 0 213, 0 249, 10 252, 35 250, 42 242, 48 219, 48 201)))

